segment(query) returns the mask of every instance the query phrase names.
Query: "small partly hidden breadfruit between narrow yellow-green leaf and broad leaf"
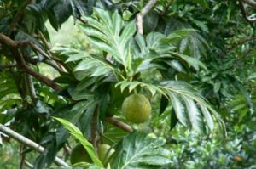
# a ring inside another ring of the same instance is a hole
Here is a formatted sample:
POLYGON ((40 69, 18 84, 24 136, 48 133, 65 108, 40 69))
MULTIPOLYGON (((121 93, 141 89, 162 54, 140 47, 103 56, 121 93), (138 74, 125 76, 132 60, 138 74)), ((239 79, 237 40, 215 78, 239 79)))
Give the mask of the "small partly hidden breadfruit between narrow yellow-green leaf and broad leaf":
POLYGON ((100 144, 98 146, 98 157, 104 165, 107 165, 109 158, 113 155, 114 149, 108 144, 100 144))

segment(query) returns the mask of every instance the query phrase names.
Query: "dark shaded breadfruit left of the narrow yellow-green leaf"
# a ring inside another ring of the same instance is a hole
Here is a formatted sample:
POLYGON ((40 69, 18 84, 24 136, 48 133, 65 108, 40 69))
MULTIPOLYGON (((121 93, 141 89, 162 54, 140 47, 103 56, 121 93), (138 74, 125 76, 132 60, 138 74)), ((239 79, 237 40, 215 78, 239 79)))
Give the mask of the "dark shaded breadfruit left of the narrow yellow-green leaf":
POLYGON ((70 155, 71 164, 79 163, 79 162, 88 162, 92 163, 90 155, 87 153, 86 149, 82 144, 76 145, 70 155))

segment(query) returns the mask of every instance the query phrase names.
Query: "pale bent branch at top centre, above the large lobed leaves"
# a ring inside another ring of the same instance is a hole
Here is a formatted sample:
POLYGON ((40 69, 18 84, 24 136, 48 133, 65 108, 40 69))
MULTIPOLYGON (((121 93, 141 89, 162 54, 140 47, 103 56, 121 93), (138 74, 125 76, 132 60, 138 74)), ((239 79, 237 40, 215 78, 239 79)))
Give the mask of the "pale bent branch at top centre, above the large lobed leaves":
POLYGON ((137 14, 137 30, 140 34, 143 34, 143 17, 148 14, 156 2, 157 0, 150 0, 142 9, 141 13, 137 14))

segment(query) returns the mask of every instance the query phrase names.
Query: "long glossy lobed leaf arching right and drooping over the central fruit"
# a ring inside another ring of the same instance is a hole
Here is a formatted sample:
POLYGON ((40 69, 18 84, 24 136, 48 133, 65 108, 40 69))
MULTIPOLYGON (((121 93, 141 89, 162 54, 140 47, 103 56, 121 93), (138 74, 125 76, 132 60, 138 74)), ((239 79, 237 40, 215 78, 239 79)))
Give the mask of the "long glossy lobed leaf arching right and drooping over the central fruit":
POLYGON ((154 96, 155 93, 160 93, 170 99, 178 121, 184 126, 192 126, 197 132, 200 132, 204 129, 204 125, 207 125, 210 131, 212 131, 212 115, 214 115, 217 117, 221 127, 225 130, 224 122, 221 120, 218 113, 213 110, 201 94, 193 90, 188 83, 166 81, 161 82, 160 85, 154 85, 137 81, 121 81, 115 85, 115 87, 120 87, 121 91, 124 91, 126 88, 129 88, 131 91, 138 86, 148 89, 148 91, 152 93, 152 96, 154 96), (206 121, 206 124, 204 121, 206 121))

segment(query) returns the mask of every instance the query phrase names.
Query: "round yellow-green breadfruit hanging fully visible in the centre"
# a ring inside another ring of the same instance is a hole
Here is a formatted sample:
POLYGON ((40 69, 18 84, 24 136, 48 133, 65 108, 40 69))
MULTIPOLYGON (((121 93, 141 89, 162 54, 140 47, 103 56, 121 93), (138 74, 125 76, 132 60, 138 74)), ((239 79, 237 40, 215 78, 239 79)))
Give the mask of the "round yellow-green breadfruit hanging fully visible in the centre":
POLYGON ((151 114, 151 104, 142 94, 131 94, 122 105, 122 112, 127 121, 143 123, 151 114))

